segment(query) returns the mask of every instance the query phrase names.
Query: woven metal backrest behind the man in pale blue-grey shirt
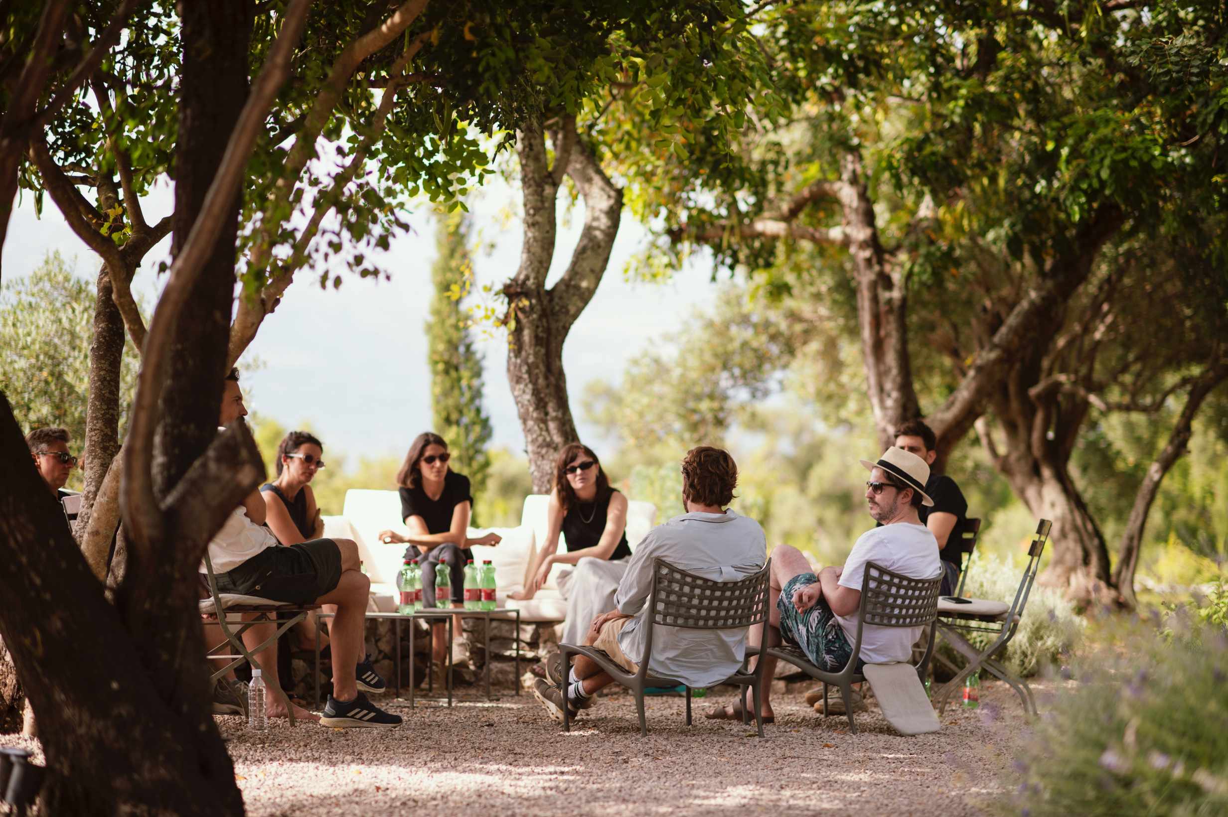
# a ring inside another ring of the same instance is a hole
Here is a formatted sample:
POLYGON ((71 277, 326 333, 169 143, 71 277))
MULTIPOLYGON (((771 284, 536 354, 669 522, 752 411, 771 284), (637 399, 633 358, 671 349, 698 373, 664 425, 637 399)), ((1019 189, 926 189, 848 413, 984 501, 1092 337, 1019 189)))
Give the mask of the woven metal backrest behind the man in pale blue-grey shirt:
POLYGON ((768 566, 737 581, 705 579, 652 561, 652 623, 688 629, 739 629, 768 619, 768 566))

